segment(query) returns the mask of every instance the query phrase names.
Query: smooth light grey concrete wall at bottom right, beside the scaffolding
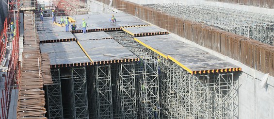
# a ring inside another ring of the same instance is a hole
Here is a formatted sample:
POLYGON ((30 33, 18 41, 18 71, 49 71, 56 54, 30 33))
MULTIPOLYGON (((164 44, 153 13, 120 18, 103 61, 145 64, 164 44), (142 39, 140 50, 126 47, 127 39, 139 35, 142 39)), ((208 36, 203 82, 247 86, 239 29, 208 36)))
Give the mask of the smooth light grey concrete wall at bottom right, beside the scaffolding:
POLYGON ((239 76, 239 119, 273 119, 274 87, 242 73, 239 76))

